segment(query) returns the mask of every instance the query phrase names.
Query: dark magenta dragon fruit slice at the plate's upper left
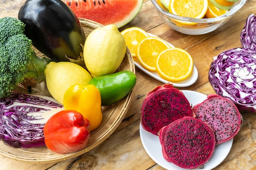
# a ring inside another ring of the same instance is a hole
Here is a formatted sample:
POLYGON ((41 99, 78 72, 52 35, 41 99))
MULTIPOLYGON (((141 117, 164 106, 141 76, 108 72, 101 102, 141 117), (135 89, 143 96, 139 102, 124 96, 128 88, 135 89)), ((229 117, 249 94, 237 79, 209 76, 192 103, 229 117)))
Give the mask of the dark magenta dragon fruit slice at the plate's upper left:
POLYGON ((150 91, 141 106, 141 126, 154 135, 184 116, 195 117, 195 114, 185 95, 169 83, 150 91))

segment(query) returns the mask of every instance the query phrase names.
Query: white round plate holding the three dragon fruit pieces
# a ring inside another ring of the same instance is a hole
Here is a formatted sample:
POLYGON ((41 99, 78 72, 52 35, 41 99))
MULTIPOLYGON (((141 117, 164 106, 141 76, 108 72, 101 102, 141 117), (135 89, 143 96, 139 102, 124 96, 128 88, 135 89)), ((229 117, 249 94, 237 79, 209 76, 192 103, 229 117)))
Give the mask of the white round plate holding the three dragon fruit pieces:
MULTIPOLYGON (((198 104, 200 102, 203 102, 207 98, 207 95, 195 91, 182 92, 189 100, 189 102, 192 104, 192 106, 195 106, 195 104, 198 104)), ((141 124, 139 126, 139 134, 144 149, 151 157, 151 159, 153 159, 159 166, 162 166, 167 170, 184 170, 184 168, 180 168, 164 159, 162 154, 162 146, 159 142, 159 137, 157 135, 153 135, 152 133, 144 130, 141 124)), ((204 168, 198 168, 196 170, 211 170, 218 166, 229 154, 232 144, 233 139, 226 141, 222 144, 216 145, 211 159, 209 159, 209 161, 204 164, 204 168)))

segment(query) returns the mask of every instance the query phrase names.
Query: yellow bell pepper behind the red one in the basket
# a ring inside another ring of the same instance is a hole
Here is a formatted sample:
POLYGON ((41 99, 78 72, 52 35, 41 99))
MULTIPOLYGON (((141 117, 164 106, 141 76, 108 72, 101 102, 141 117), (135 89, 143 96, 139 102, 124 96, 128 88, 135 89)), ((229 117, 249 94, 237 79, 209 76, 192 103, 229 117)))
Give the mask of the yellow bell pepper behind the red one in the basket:
POLYGON ((102 121, 101 93, 94 85, 75 84, 64 94, 63 105, 66 110, 76 110, 90 121, 89 131, 96 129, 102 121))

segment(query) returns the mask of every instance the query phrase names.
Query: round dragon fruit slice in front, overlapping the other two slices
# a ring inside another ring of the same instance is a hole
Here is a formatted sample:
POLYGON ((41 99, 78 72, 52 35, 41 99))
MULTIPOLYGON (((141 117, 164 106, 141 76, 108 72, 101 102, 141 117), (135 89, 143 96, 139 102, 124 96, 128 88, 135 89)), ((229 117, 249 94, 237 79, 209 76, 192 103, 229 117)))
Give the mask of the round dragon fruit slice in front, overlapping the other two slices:
POLYGON ((186 169, 206 163, 216 144, 211 126, 187 116, 161 128, 159 139, 164 159, 186 169))

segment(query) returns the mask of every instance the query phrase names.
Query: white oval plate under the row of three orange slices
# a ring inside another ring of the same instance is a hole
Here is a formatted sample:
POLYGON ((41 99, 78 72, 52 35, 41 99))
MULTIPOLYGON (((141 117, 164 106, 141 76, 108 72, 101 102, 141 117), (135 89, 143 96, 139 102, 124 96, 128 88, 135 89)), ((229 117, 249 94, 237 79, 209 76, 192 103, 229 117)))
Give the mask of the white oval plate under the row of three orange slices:
MULTIPOLYGON (((153 34, 150 34, 148 33, 148 35, 150 36, 153 36, 153 37, 157 37, 153 34)), ((175 47, 173 46, 172 44, 170 44, 169 42, 167 42, 171 47, 175 47)), ((165 80, 165 79, 162 79, 158 74, 157 72, 153 72, 153 71, 148 71, 146 70, 140 63, 139 61, 136 61, 134 60, 134 64, 135 66, 137 66, 137 68, 139 68, 141 71, 143 71, 144 73, 146 73, 147 75, 149 75, 150 77, 153 77, 154 79, 157 79, 158 81, 160 82, 163 82, 163 83, 168 83, 169 81, 165 80)), ((196 69, 195 65, 193 65, 193 71, 191 73, 191 75, 180 81, 180 82, 170 82, 171 84, 173 84, 173 86, 175 87, 187 87, 187 86, 191 86, 192 84, 195 83, 195 81, 198 79, 198 70, 196 69)))

